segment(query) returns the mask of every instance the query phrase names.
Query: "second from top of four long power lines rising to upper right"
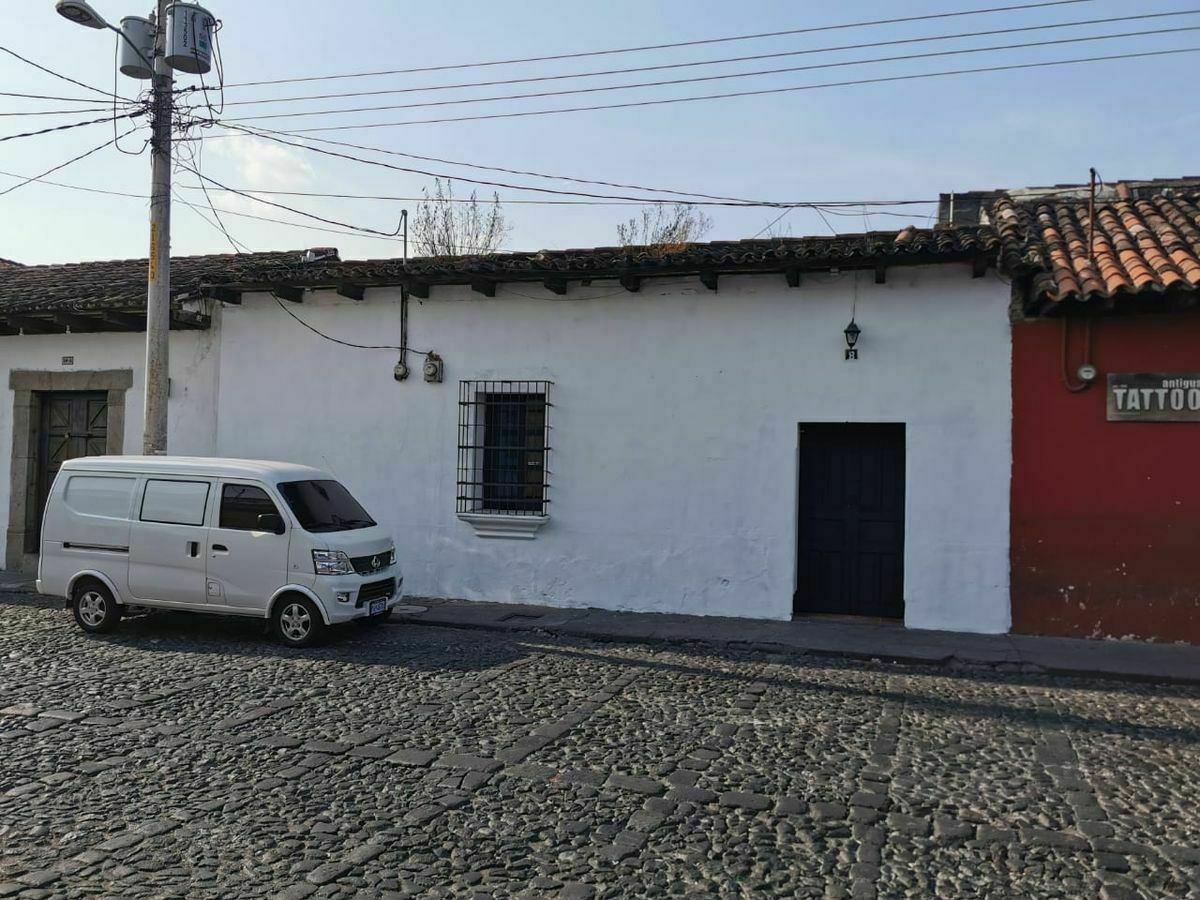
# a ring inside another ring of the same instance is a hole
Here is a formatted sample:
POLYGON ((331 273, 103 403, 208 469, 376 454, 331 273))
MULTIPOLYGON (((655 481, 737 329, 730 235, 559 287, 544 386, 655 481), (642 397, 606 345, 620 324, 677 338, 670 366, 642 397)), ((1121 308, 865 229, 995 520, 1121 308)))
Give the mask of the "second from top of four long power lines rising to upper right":
MULTIPOLYGON (((594 71, 594 72, 571 72, 571 73, 566 73, 566 74, 529 76, 529 77, 526 77, 526 78, 504 78, 504 79, 491 80, 491 82, 461 82, 458 84, 434 84, 434 85, 421 86, 421 88, 391 88, 391 89, 388 89, 388 90, 374 90, 374 91, 346 91, 346 92, 340 92, 340 94, 338 92, 335 92, 335 94, 311 94, 311 95, 306 95, 306 96, 299 96, 299 97, 272 97, 272 98, 269 98, 269 100, 235 100, 235 101, 230 101, 228 103, 228 106, 230 106, 230 107, 239 107, 239 106, 263 106, 263 104, 271 104, 271 103, 295 103, 295 102, 308 101, 308 100, 336 100, 336 98, 342 98, 342 97, 378 97, 378 96, 388 96, 388 95, 395 95, 395 94, 415 94, 415 92, 436 91, 436 90, 458 90, 458 89, 463 89, 463 88, 493 88, 493 86, 504 85, 504 84, 530 84, 530 83, 535 83, 535 82, 559 82, 559 80, 569 80, 569 79, 574 79, 574 78, 595 78, 595 77, 600 77, 600 76, 632 74, 632 73, 636 73, 636 72, 658 72, 658 71, 662 71, 662 70, 694 68, 694 67, 697 67, 697 66, 716 66, 716 65, 724 65, 724 64, 728 64, 728 62, 754 62, 754 61, 764 60, 764 59, 780 59, 780 58, 787 58, 787 56, 806 56, 806 55, 811 55, 811 54, 815 54, 815 53, 839 53, 839 52, 842 52, 842 50, 860 50, 860 49, 869 49, 869 48, 874 48, 874 47, 896 47, 896 46, 904 46, 904 44, 931 43, 931 42, 935 42, 935 41, 955 41, 955 40, 961 40, 961 38, 967 38, 967 37, 990 37, 990 36, 995 36, 995 35, 1012 35, 1012 34, 1021 34, 1021 32, 1030 32, 1030 31, 1048 31, 1048 30, 1063 29, 1063 28, 1081 28, 1084 25, 1108 25, 1108 24, 1114 24, 1114 23, 1117 23, 1117 22, 1134 22, 1134 20, 1141 20, 1141 19, 1160 19, 1160 18, 1171 18, 1171 17, 1177 17, 1177 16, 1194 16, 1196 13, 1200 13, 1200 10, 1181 10, 1181 11, 1177 11, 1177 12, 1157 12, 1157 13, 1146 13, 1146 14, 1141 14, 1141 16, 1116 16, 1116 17, 1103 18, 1103 19, 1085 19, 1082 22, 1063 22, 1063 23, 1054 23, 1054 24, 1049 24, 1049 25, 1024 25, 1021 28, 1002 28, 1002 29, 991 29, 991 30, 988 30, 988 31, 962 31, 962 32, 959 32, 959 34, 955 34, 955 35, 932 35, 932 36, 926 36, 926 37, 905 37, 905 38, 899 38, 899 40, 893 40, 893 41, 869 41, 869 42, 865 42, 865 43, 841 44, 840 47, 812 47, 812 48, 806 48, 806 49, 803 49, 803 50, 785 50, 785 52, 781 52, 781 53, 760 53, 760 54, 755 54, 755 55, 750 55, 750 56, 728 56, 728 58, 725 58, 725 59, 697 60, 697 61, 692 61, 692 62, 666 62, 666 64, 660 64, 660 65, 656 65, 656 66, 634 66, 634 67, 629 67, 629 68, 606 68, 606 70, 599 70, 599 71, 594 71)), ((785 70, 773 70, 773 71, 790 72, 790 71, 793 71, 793 70, 785 68, 785 70)), ((749 73, 744 73, 744 74, 758 74, 758 73, 749 72, 749 73)), ((742 77, 742 74, 727 76, 727 77, 742 77)), ((668 84, 673 84, 673 83, 674 82, 668 82, 668 84)), ((197 88, 184 88, 184 89, 181 89, 180 91, 176 91, 176 92, 179 92, 179 94, 187 94, 187 92, 192 92, 192 91, 196 91, 196 90, 198 90, 198 89, 197 88)), ((390 108, 390 107, 374 107, 374 108, 376 109, 379 109, 379 108, 386 109, 386 108, 390 108)), ((361 112, 361 110, 356 110, 356 112, 361 112)))

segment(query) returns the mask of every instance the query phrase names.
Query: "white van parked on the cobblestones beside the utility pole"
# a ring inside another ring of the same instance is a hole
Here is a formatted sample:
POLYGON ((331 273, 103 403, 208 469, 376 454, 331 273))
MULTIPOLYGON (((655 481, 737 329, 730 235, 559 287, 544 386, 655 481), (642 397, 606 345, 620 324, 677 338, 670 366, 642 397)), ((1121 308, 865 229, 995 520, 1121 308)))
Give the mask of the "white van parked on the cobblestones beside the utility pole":
POLYGON ((130 607, 270 619, 304 647, 400 602, 396 547, 332 475, 179 456, 62 463, 42 522, 37 589, 85 631, 130 607))

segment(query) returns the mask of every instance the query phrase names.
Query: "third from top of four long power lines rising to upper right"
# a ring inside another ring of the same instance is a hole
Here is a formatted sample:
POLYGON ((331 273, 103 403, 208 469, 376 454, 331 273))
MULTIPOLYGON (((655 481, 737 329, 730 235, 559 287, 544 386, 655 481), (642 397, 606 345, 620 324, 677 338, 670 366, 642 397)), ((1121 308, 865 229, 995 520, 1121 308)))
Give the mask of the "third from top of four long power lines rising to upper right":
POLYGON ((1115 41, 1126 37, 1148 37, 1152 35, 1178 34, 1183 31, 1200 31, 1200 25, 1186 25, 1182 28, 1151 29, 1146 31, 1127 31, 1116 35, 1091 35, 1086 37, 1060 37, 1052 41, 1033 41, 1026 43, 998 44, 994 47, 966 47, 954 50, 934 50, 931 53, 910 53, 899 56, 877 56, 875 59, 841 60, 839 62, 821 62, 810 66, 785 66, 782 68, 763 68, 756 72, 724 72, 720 74, 695 76, 692 78, 670 78, 658 82, 637 82, 634 84, 605 84, 594 88, 570 88, 566 90, 533 91, 529 94, 504 94, 493 97, 467 97, 463 100, 428 100, 420 103, 395 103, 376 107, 350 107, 347 109, 310 109, 298 113, 266 113, 263 115, 246 115, 239 119, 226 119, 227 122, 251 122, 265 121, 268 119, 301 119, 307 116, 350 115, 354 113, 379 113, 392 109, 428 109, 434 107, 455 107, 467 103, 494 103, 509 100, 534 100, 540 97, 564 97, 577 94, 602 94, 606 91, 635 90, 642 88, 666 88, 677 84, 698 84, 702 82, 722 82, 734 78, 757 78, 760 76, 788 74, 792 72, 823 71, 827 68, 845 68, 846 66, 866 66, 878 62, 907 62, 920 59, 936 59, 941 56, 965 56, 976 53, 995 53, 997 50, 1024 50, 1038 47, 1055 47, 1058 44, 1091 43, 1093 41, 1115 41))

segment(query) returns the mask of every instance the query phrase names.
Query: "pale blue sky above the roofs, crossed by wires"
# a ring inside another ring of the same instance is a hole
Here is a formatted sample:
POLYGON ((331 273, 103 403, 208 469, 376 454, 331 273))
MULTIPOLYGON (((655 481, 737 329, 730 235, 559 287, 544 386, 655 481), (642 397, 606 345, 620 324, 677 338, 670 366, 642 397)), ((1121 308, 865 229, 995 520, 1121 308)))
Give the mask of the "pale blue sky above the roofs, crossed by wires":
MULTIPOLYGON (((395 106, 439 100, 570 90, 644 80, 758 72, 764 68, 823 66, 809 71, 756 74, 690 84, 606 90, 524 100, 476 102, 433 108, 373 110, 252 120, 244 126, 290 131, 420 119, 514 113, 707 94, 770 90, 871 78, 1008 66, 1097 55, 1200 48, 1200 14, 1136 22, 1079 25, 1024 34, 804 53, 845 44, 959 35, 1019 26, 1081 23, 1193 8, 1181 0, 1082 0, 1068 5, 948 18, 944 14, 1021 0, 842 0, 836 4, 746 0, 660 0, 607 4, 521 0, 455 4, 400 4, 385 0, 212 0, 222 20, 220 32, 224 80, 229 85, 312 76, 377 72, 428 66, 466 66, 527 56, 611 50, 646 44, 706 41, 790 29, 812 29, 881 18, 938 14, 941 18, 823 32, 706 43, 635 53, 556 61, 456 67, 438 72, 328 79, 299 84, 229 86, 223 121, 247 115, 305 110, 395 106), (1018 44, 1172 29, 1169 34, 1121 37, 1051 47, 1013 48, 953 56, 866 62, 914 53, 1018 44), (607 74, 468 89, 412 90, 436 85, 577 74, 710 62, 740 56, 797 54, 738 62, 652 72, 607 74), (274 100, 347 91, 402 91, 367 97, 233 106, 235 101, 274 100)), ((92 0, 110 22, 148 12, 128 0, 92 0)), ((114 44, 109 31, 80 28, 60 18, 52 0, 5 4, 0 46, 104 91, 113 90, 114 44), (19 14, 18 14, 19 12, 19 14)), ((634 184, 689 193, 768 202, 936 200, 942 192, 1031 185, 1079 184, 1096 167, 1106 181, 1200 175, 1200 108, 1186 85, 1194 82, 1200 53, 1110 60, 954 77, 781 91, 758 96, 667 103, 554 115, 528 115, 476 121, 407 124, 389 127, 310 133, 384 150, 439 157, 454 162, 505 167, 542 174, 634 184), (1174 86, 1172 86, 1174 85, 1174 86)), ((215 74, 215 73, 214 73, 215 74)), ((214 74, 205 78, 211 85, 214 74)), ((118 76, 116 92, 136 95, 144 83, 118 76)), ((180 74, 176 88, 199 85, 180 74)), ((0 90, 56 97, 95 97, 83 88, 46 74, 0 54, 0 90)), ((212 94, 216 101, 216 92, 212 94)), ((110 114, 91 103, 0 97, 5 115, 0 137, 110 114), (78 112, 86 109, 90 112, 78 112)), ((202 110, 206 116, 206 110, 202 110)), ((130 125, 121 126, 122 131, 130 125)), ((505 175, 446 163, 416 162, 372 151, 342 150, 390 164, 424 169, 430 175, 332 158, 307 149, 246 137, 221 126, 196 127, 185 161, 197 160, 211 179, 229 187, 312 193, 362 193, 419 198, 432 186, 432 174, 478 178, 511 185, 575 190, 644 198, 628 191, 505 175), (230 137, 233 136, 233 137, 230 137), (194 156, 193 156, 194 155, 194 156)), ((0 142, 0 191, 17 176, 36 175, 113 137, 110 124, 0 142)), ((144 146, 145 131, 124 138, 126 150, 144 146)), ((288 138, 294 143, 301 137, 288 138)), ((0 194, 0 257, 26 264, 144 257, 148 245, 149 154, 122 155, 114 146, 97 150, 53 175, 67 185, 126 192, 140 197, 88 193, 29 184, 0 194)), ((334 234, 298 224, 322 226, 301 215, 254 199, 197 190, 197 178, 175 174, 178 194, 198 205, 210 220, 182 202, 174 204, 172 248, 175 256, 233 252, 215 223, 209 202, 233 238, 252 251, 336 246, 343 259, 398 257, 398 239, 361 233, 334 234), (283 220, 263 222, 247 216, 283 220)), ((211 187, 211 186, 210 186, 211 187)), ((456 196, 478 190, 500 194, 511 230, 508 250, 535 251, 611 246, 617 224, 640 214, 637 205, 536 205, 516 200, 550 199, 552 194, 454 182, 456 196), (506 202, 506 203, 505 203, 506 202)), ((654 194, 664 197, 665 194, 654 194)), ((394 232, 414 200, 356 200, 317 197, 270 199, 324 218, 394 232)), ((558 198, 569 199, 569 198, 558 198)), ((580 198, 575 198, 580 199, 580 198)), ((926 224, 932 204, 856 208, 823 220, 812 210, 787 212, 767 234, 793 236, 895 229, 926 224)), ((706 209, 713 226, 708 240, 736 240, 763 233, 779 210, 769 208, 706 209)))

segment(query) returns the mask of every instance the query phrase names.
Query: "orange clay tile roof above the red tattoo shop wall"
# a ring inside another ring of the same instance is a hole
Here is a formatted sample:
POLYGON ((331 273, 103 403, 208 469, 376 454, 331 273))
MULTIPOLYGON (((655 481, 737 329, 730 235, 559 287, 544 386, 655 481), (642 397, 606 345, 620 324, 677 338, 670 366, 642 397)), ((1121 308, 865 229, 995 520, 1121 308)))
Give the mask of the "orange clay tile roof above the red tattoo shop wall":
POLYGON ((1200 290, 1200 184, 1166 182, 1134 198, 1128 186, 1097 202, 1003 196, 991 209, 1001 265, 1028 278, 1026 306, 1200 290))

